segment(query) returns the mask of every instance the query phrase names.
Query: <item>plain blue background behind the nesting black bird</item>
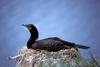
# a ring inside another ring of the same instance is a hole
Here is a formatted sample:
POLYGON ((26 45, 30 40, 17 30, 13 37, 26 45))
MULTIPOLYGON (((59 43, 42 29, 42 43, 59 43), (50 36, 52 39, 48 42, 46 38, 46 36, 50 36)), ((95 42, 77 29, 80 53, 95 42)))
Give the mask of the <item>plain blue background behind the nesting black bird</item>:
POLYGON ((25 46, 30 33, 21 24, 29 23, 39 39, 57 36, 100 56, 100 0, 0 0, 0 67, 15 66, 7 57, 25 46))

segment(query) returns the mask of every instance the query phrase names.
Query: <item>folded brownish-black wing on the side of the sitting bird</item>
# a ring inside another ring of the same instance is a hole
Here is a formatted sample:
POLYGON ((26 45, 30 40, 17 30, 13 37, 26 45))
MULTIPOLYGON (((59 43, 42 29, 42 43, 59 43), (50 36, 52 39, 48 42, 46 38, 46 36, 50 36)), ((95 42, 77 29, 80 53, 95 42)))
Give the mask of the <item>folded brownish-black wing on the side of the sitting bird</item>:
POLYGON ((46 38, 36 41, 32 47, 36 49, 55 50, 62 49, 63 43, 53 38, 46 38))

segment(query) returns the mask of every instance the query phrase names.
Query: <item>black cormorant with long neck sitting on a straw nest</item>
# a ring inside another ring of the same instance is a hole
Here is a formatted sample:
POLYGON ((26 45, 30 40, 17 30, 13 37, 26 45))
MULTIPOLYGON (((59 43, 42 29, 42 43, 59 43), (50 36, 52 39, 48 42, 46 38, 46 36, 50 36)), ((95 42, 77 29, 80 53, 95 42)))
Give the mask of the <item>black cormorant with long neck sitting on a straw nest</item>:
POLYGON ((90 47, 83 46, 75 43, 71 43, 65 40, 62 40, 58 37, 50 37, 42 40, 37 40, 39 37, 39 32, 37 28, 33 24, 22 24, 25 26, 31 36, 27 42, 27 48, 35 49, 35 50, 47 50, 47 51, 59 51, 61 49, 70 49, 70 48, 82 48, 82 49, 88 49, 90 47))

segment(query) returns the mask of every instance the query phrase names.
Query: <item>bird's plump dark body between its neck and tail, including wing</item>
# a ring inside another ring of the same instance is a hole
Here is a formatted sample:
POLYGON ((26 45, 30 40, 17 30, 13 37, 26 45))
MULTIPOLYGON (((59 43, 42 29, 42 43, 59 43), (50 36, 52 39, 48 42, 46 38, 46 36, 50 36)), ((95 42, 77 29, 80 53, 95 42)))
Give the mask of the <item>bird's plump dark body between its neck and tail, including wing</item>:
POLYGON ((69 47, 70 46, 65 45, 63 40, 58 37, 50 37, 38 40, 32 45, 33 49, 42 49, 47 51, 59 51, 61 49, 66 49, 69 47))

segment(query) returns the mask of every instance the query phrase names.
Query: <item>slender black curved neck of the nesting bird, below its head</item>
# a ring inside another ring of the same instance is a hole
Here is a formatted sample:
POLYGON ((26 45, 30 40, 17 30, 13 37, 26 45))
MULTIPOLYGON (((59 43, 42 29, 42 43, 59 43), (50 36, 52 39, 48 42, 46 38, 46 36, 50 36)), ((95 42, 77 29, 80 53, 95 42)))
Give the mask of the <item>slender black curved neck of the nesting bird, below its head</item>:
POLYGON ((27 48, 32 48, 32 44, 34 44, 38 38, 38 31, 36 30, 30 30, 30 38, 27 42, 27 48))

